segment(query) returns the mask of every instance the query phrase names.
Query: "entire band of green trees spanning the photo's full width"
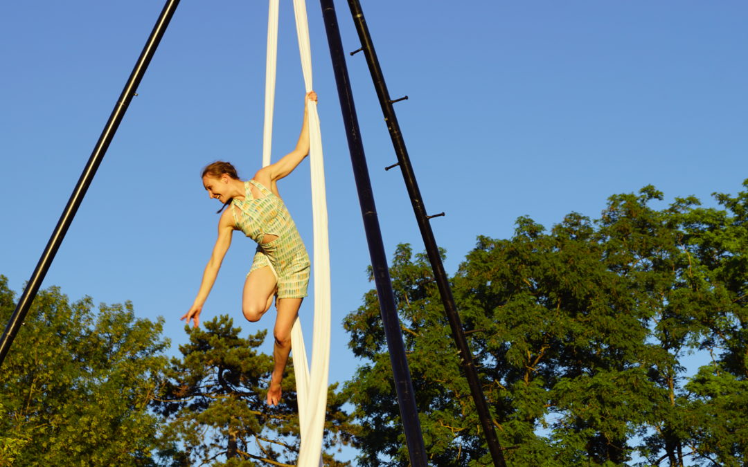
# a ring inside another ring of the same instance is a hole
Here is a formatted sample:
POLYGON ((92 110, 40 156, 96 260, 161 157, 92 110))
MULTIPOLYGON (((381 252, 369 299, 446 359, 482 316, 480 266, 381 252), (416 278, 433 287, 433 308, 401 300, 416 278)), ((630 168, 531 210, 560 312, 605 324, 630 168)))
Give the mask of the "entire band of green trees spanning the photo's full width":
MULTIPOLYGON (((509 466, 748 465, 744 188, 706 208, 648 186, 477 239, 450 282, 509 466)), ((430 462, 491 464, 426 256, 400 245, 390 276, 430 462)), ((14 306, 0 276, 0 318, 14 306)), ((349 443, 408 465, 374 290, 344 327, 364 365, 328 392, 325 465, 349 443)), ((0 466, 295 462, 292 366, 269 408, 264 332, 219 316, 171 360, 161 332, 130 303, 41 291, 0 372, 0 466)))

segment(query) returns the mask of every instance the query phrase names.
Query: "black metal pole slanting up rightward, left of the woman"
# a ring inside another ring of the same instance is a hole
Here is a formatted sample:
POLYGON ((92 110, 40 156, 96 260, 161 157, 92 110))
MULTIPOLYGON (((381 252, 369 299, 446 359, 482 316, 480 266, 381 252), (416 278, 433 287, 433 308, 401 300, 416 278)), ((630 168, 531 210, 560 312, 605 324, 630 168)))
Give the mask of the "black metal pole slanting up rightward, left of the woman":
POLYGON ((13 339, 16 338, 16 334, 23 324, 23 320, 26 318, 28 309, 31 308, 31 302, 34 301, 34 297, 36 297, 37 291, 39 291, 44 276, 46 276, 47 270, 49 270, 49 265, 51 265, 52 260, 55 259, 55 254, 65 237, 65 233, 70 227, 70 223, 73 222, 73 217, 75 217, 76 211, 78 211, 83 197, 85 197, 86 191, 88 191, 88 186, 91 185, 93 176, 96 175, 96 169, 99 168, 99 164, 101 164, 102 158, 104 158, 106 149, 108 149, 109 143, 111 143, 111 139, 114 137, 114 133, 117 132, 117 127, 120 126, 122 117, 124 117, 124 114, 130 105, 130 101, 132 101, 132 97, 135 96, 135 91, 138 90, 138 84, 140 84, 140 81, 145 74, 145 70, 147 69, 148 64, 150 64, 150 59, 153 58, 153 54, 156 52, 156 48, 159 46, 159 42, 161 42, 161 38, 169 25, 169 21, 171 21, 171 17, 174 16, 174 10, 177 9, 179 3, 180 0, 168 0, 164 5, 161 16, 159 16, 159 19, 156 21, 156 25, 153 26, 153 31, 150 33, 150 37, 148 37, 140 58, 138 58, 138 61, 135 63, 135 68, 132 69, 132 73, 125 84, 120 99, 118 99, 117 104, 114 105, 114 110, 111 111, 109 120, 104 126, 101 136, 99 136, 99 140, 93 148, 93 152, 91 152, 91 158, 88 159, 88 164, 86 164, 86 167, 83 169, 81 178, 78 180, 76 188, 73 189, 73 194, 70 195, 70 200, 68 200, 64 211, 62 211, 60 220, 58 220, 57 226, 52 232, 52 237, 49 238, 49 242, 47 242, 46 248, 37 263, 37 267, 34 269, 34 273, 31 274, 31 279, 28 279, 26 288, 18 300, 13 315, 10 316, 10 322, 7 324, 7 327, 5 327, 2 340, 0 341, 0 366, 4 361, 8 350, 10 350, 10 345, 13 344, 13 339))

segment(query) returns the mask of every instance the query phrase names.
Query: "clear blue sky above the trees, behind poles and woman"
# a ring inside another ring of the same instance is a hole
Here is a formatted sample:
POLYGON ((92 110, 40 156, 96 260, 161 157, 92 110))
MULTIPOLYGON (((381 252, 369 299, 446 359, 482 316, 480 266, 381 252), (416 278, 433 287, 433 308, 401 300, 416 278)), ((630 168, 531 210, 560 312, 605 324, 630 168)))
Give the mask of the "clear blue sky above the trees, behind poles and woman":
MULTIPOLYGON (((343 43, 358 49, 346 2, 343 43)), ((163 7, 157 0, 0 5, 0 273, 23 283, 39 259, 163 7)), ((608 196, 653 184, 666 200, 735 193, 748 178, 744 1, 364 1, 447 270, 476 235, 506 238, 529 215, 597 217, 608 196)), ((266 50, 261 1, 183 1, 43 287, 132 300, 138 316, 190 306, 215 239, 218 202, 200 168, 260 167, 266 50)), ((358 362, 343 317, 373 287, 319 4, 307 4, 325 146, 333 287, 331 380, 358 362)), ((290 2, 281 8, 274 155, 292 149, 304 85, 290 2)), ((348 58, 387 253, 423 250, 364 56, 348 58)), ((280 185, 311 247, 308 164, 280 185)), ((203 320, 245 332, 254 244, 235 235, 203 320)), ((311 328, 312 300, 301 309, 311 328), (309 318, 309 319, 307 319, 309 318)), ((260 322, 272 327, 272 316, 260 322)), ((22 342, 16 342, 16 345, 22 342)), ((307 344, 309 345, 309 344, 307 344)), ((176 351, 176 347, 175 347, 176 351)))

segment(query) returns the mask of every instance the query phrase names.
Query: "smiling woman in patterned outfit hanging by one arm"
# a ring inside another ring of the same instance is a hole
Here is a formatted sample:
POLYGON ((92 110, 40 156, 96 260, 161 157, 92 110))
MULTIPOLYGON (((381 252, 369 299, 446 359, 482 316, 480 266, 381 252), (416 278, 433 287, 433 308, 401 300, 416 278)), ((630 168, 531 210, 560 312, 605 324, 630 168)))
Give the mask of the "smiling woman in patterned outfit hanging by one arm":
MULTIPOLYGON (((291 351, 291 328, 301 300, 307 296, 309 282, 309 256, 298 235, 293 220, 278 194, 276 182, 288 175, 309 153, 309 128, 307 102, 317 100, 316 93, 307 93, 304 99, 304 123, 296 148, 280 161, 263 167, 248 182, 242 182, 233 166, 227 162, 214 162, 203 170, 203 186, 211 198, 228 207, 218 220, 218 239, 203 273, 200 291, 189 311, 181 318, 200 322, 203 303, 218 275, 218 269, 231 244, 234 230, 241 230, 257 241, 257 253, 247 275, 242 295, 242 312, 249 321, 259 321, 272 305, 275 318, 275 346, 268 404, 281 401, 281 380, 291 351)), ((221 211, 223 208, 221 208, 221 211)), ((218 212, 221 212, 218 211, 218 212)))

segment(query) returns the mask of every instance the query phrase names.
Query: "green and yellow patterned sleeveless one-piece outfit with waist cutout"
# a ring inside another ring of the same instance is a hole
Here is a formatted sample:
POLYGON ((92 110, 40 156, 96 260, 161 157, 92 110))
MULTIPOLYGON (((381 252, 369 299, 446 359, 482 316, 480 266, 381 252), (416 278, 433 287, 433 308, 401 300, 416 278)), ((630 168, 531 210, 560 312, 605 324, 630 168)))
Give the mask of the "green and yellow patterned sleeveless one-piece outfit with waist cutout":
POLYGON ((272 266, 278 279, 278 298, 306 297, 309 255, 286 205, 254 180, 244 182, 244 189, 245 199, 232 201, 232 213, 236 229, 258 244, 249 272, 272 266), (263 197, 253 197, 250 184, 257 187, 263 197), (266 234, 278 235, 278 238, 263 244, 266 234))

